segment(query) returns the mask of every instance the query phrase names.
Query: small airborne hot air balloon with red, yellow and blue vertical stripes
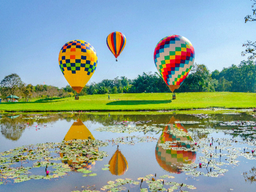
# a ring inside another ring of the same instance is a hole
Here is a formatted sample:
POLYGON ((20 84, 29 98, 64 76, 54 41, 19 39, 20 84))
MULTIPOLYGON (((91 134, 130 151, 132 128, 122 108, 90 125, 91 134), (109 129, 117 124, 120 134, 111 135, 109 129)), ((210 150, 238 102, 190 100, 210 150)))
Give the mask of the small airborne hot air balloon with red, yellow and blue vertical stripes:
POLYGON ((117 61, 117 57, 123 51, 125 44, 126 44, 126 38, 124 34, 118 31, 110 33, 107 37, 108 49, 113 53, 113 55, 116 58, 116 61, 117 61))

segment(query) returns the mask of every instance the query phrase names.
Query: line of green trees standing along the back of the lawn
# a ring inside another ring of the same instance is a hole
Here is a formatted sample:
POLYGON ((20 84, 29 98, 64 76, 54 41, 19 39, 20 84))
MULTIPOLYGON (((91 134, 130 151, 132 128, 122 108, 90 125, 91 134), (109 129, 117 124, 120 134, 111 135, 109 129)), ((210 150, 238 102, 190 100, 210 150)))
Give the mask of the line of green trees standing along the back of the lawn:
MULTIPOLYGON (((8 95, 20 98, 72 97, 76 92, 67 85, 58 88, 52 85, 25 84, 17 74, 5 76, 0 83, 2 99, 8 95)), ((170 92, 158 73, 143 73, 135 79, 121 76, 104 79, 99 83, 86 85, 79 95, 170 92)), ((242 61, 238 66, 231 65, 221 71, 210 70, 204 64, 195 63, 183 84, 175 92, 256 92, 256 62, 242 61)))

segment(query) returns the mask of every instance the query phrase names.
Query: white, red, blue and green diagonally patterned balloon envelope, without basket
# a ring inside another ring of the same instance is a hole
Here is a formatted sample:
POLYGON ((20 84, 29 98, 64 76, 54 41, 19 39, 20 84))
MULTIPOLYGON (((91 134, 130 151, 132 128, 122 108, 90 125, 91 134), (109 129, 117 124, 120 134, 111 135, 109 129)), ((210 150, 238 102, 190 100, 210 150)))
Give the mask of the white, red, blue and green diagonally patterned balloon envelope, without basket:
POLYGON ((156 45, 154 52, 156 68, 172 92, 178 89, 188 76, 194 60, 194 47, 183 36, 167 36, 156 45))

